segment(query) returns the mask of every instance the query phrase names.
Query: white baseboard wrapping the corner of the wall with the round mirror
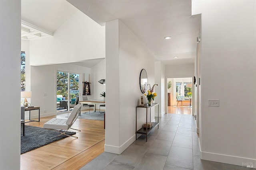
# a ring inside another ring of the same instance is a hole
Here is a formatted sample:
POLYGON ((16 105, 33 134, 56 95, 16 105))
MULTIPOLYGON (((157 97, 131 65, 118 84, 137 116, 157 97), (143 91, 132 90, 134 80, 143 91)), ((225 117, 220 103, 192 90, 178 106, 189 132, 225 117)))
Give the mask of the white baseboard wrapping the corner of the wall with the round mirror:
POLYGON ((130 139, 128 139, 123 145, 121 145, 120 147, 116 147, 116 146, 111 146, 111 145, 106 145, 105 144, 105 152, 110 152, 110 153, 114 153, 114 154, 121 154, 122 152, 124 152, 124 150, 126 148, 128 148, 133 142, 135 141, 135 135, 133 135, 132 137, 130 137, 130 139))

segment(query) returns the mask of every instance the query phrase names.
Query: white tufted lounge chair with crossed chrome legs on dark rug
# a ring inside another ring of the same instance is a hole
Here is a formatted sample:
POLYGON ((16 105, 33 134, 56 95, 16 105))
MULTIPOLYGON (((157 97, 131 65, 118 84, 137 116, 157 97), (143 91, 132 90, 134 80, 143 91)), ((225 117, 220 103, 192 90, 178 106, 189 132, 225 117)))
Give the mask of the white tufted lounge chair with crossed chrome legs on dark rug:
MULTIPOLYGON (((49 121, 47 121, 46 123, 44 123, 44 129, 55 130, 55 131, 60 132, 60 135, 63 134, 66 136, 78 138, 76 136, 67 135, 66 132, 68 131, 68 129, 73 129, 73 128, 71 128, 71 126, 76 121, 78 115, 80 114, 80 111, 81 111, 81 104, 77 104, 73 108, 68 119, 52 118, 49 121), (62 132, 62 131, 64 131, 64 132, 62 132)), ((74 129, 74 130, 80 131, 78 129, 74 129)), ((60 136, 60 135, 58 135, 58 136, 60 136)), ((56 137, 58 137, 58 136, 56 136, 56 137)))

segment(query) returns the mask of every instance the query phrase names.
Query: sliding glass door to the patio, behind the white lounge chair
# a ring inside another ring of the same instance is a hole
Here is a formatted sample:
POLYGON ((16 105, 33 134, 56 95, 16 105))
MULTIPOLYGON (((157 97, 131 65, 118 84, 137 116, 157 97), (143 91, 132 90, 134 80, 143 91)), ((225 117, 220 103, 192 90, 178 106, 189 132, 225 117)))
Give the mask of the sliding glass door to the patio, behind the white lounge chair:
POLYGON ((70 111, 79 96, 79 74, 57 71, 56 109, 57 113, 70 111))

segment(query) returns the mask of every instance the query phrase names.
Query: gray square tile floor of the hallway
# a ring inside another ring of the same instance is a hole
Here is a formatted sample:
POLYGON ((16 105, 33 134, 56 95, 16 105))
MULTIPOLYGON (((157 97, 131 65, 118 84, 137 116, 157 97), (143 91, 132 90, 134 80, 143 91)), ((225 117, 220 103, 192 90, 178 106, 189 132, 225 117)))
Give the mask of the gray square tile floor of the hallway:
POLYGON ((80 170, 248 170, 246 167, 200 159, 192 115, 165 114, 148 134, 122 154, 103 152, 80 170))

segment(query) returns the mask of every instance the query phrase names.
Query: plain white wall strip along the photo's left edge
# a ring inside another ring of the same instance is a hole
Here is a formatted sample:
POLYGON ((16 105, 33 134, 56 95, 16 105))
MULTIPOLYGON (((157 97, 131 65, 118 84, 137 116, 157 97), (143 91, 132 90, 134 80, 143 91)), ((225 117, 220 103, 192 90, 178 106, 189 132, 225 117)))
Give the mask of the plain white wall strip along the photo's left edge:
POLYGON ((0 1, 0 169, 20 169, 20 0, 0 1))

